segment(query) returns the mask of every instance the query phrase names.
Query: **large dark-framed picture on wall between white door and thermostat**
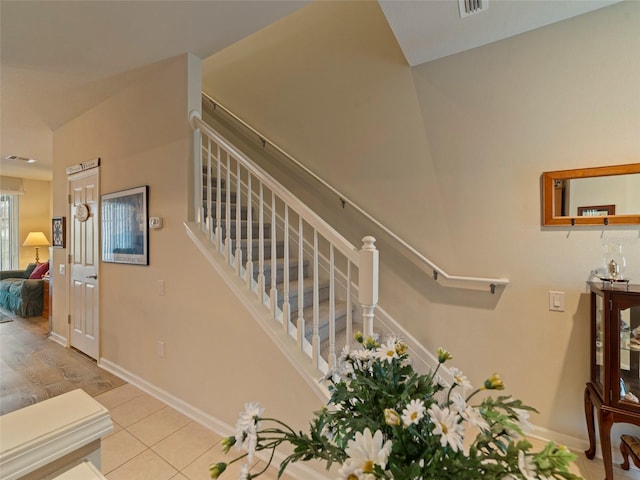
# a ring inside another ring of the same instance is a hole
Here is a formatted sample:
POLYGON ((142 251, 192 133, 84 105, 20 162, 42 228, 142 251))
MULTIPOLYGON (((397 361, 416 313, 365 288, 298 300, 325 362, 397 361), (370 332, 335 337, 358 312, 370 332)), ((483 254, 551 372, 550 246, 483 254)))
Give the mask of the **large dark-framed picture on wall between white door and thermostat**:
POLYGON ((149 265, 149 186, 101 197, 102 261, 149 265))

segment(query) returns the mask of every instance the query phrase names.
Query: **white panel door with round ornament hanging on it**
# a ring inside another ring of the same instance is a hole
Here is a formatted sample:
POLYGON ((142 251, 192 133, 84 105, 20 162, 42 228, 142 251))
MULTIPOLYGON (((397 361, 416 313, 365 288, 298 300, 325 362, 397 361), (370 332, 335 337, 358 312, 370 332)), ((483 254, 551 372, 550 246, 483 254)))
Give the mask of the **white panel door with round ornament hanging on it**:
POLYGON ((71 346, 98 359, 100 318, 98 309, 98 169, 69 177, 71 194, 70 314, 71 346))

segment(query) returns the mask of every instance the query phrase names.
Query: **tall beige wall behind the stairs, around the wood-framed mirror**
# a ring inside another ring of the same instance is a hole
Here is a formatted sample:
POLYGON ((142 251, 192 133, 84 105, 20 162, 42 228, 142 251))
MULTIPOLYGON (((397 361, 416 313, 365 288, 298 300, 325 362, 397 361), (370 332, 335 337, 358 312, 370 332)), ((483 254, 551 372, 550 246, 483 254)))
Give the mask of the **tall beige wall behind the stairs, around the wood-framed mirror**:
POLYGON ((585 281, 610 236, 640 278, 640 235, 542 228, 540 175, 639 161, 638 25, 623 2, 411 69, 375 2, 317 2, 207 59, 203 89, 449 273, 508 277, 496 295, 442 287, 312 199, 379 237, 380 304, 425 346, 476 384, 501 372, 535 424, 584 440, 585 281))

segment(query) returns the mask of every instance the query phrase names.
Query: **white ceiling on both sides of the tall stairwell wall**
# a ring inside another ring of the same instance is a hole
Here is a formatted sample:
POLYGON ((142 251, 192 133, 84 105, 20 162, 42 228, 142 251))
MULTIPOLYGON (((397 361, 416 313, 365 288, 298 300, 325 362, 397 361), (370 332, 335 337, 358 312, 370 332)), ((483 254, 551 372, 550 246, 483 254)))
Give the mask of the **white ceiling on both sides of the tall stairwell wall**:
MULTIPOLYGON (((457 0, 380 0, 411 66, 620 0, 489 0, 460 18, 457 0)), ((204 59, 308 0, 0 2, 0 173, 50 179, 51 132, 155 62, 204 59), (31 166, 5 160, 35 158, 31 166)))

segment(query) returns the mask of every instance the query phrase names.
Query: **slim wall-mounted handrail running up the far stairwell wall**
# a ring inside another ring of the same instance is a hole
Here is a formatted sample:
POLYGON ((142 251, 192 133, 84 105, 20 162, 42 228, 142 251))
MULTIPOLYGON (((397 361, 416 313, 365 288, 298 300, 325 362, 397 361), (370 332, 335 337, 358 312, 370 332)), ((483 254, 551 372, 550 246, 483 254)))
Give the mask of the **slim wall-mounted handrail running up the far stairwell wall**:
POLYGON ((427 257, 425 257, 423 254, 421 254, 418 250, 416 250, 414 247, 412 247, 409 243, 407 243, 405 240, 403 240, 402 238, 400 238, 398 235, 396 235, 394 232, 392 232, 388 227, 386 227, 385 225, 383 225, 380 221, 378 221, 376 218, 374 218, 373 216, 371 216, 369 213, 367 213, 364 209, 362 209, 359 205, 357 205, 355 202, 353 202, 352 200, 350 200, 347 196, 345 196, 344 194, 342 194, 340 191, 338 191, 336 188, 334 188, 332 185, 330 185, 329 183, 327 183, 325 180, 323 180, 322 178, 320 178, 316 173, 314 173, 312 170, 310 170, 308 167, 306 167, 305 165, 303 165, 302 163, 300 163, 298 160, 296 160, 293 156, 289 155, 286 151, 284 151, 282 148, 280 148, 278 145, 276 145, 274 142, 272 142, 271 140, 269 140, 266 136, 264 136, 263 134, 261 134, 259 131, 257 131, 255 128, 253 128, 251 125, 249 125, 247 122, 245 122, 244 120, 242 120, 241 118, 239 118, 237 115, 235 115, 233 112, 231 112, 228 108, 226 108, 224 105, 222 105, 220 102, 218 102, 217 100, 213 99, 210 95, 206 94, 205 92, 202 92, 202 96, 209 101, 214 108, 220 108, 222 109, 225 114, 229 115, 230 117, 232 117, 236 122, 240 123, 244 128, 246 128, 247 130, 251 131, 253 134, 255 134, 258 139, 262 142, 263 145, 265 145, 266 143, 268 143, 272 148, 274 148, 276 151, 278 151, 278 153, 280 153, 281 155, 283 155, 286 159, 288 159, 289 161, 291 161, 293 164, 295 164, 298 168, 302 169, 305 173, 307 173, 308 175, 310 175, 314 180, 316 180, 317 182, 319 182, 321 185, 323 185, 325 188, 327 188, 329 191, 333 192, 335 195, 338 196, 338 198, 340 198, 340 201, 343 202, 343 204, 349 204, 353 209, 355 209, 358 213, 360 213, 362 216, 364 216, 367 220, 369 220, 370 222, 372 222, 373 224, 375 224, 378 228, 380 228, 381 230, 383 230, 387 235, 389 235, 391 238, 393 238, 396 242, 398 242, 400 245, 402 245, 407 251, 409 251, 412 255, 414 255, 417 259, 419 259, 424 265, 427 266, 427 268, 429 270, 431 270, 433 272, 433 278, 434 280, 438 280, 440 277, 451 281, 451 282, 461 282, 461 283, 473 283, 473 284, 484 284, 484 285, 488 285, 489 289, 491 291, 491 293, 495 293, 496 287, 497 286, 506 286, 509 284, 509 279, 508 278, 490 278, 490 277, 473 277, 473 276, 463 276, 463 275, 451 275, 449 273, 447 273, 445 270, 443 270, 442 268, 440 268, 438 265, 436 265, 434 262, 432 262, 431 260, 429 260, 427 257))

